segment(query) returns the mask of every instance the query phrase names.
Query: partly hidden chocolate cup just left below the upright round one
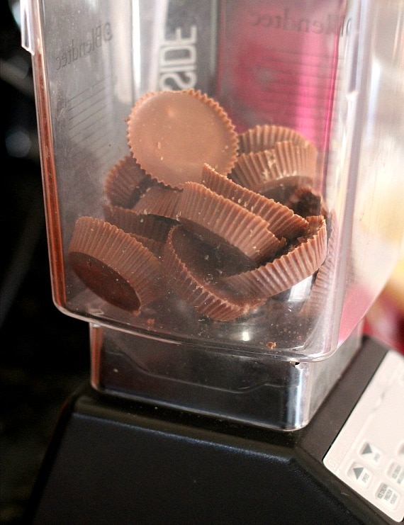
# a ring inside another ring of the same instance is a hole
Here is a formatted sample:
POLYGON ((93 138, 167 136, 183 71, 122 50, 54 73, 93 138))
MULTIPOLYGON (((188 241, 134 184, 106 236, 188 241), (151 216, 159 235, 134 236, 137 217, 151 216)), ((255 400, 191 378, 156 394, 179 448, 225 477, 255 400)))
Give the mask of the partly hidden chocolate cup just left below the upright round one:
POLYGON ((106 175, 104 191, 111 205, 132 208, 147 188, 156 184, 133 159, 120 159, 106 175))

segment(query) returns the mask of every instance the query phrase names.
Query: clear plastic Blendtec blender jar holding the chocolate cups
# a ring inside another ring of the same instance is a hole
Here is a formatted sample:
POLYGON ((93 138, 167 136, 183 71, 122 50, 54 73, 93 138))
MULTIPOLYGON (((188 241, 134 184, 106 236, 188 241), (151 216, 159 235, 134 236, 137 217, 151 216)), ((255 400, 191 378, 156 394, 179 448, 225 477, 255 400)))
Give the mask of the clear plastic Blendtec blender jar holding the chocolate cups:
POLYGON ((404 2, 21 1, 52 292, 111 395, 303 427, 400 255, 404 2))

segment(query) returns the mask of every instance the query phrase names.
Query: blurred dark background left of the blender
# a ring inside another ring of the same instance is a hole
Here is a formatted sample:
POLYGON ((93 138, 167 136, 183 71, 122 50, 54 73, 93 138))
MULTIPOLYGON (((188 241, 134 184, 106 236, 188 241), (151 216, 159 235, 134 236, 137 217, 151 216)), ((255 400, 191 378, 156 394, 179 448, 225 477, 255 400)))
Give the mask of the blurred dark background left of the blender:
POLYGON ((21 523, 62 404, 89 377, 88 324, 52 303, 31 59, 18 11, 18 1, 1 1, 1 524, 21 523))

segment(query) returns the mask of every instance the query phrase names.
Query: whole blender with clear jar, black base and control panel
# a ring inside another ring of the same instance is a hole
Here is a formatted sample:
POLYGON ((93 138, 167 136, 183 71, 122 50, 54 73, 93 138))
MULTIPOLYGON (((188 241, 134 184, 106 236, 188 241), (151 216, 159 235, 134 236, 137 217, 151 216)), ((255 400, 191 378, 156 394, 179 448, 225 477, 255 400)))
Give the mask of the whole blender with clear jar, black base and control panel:
POLYGON ((21 1, 56 307, 36 523, 397 523, 401 0, 21 1), (386 431, 388 429, 388 431, 386 431))

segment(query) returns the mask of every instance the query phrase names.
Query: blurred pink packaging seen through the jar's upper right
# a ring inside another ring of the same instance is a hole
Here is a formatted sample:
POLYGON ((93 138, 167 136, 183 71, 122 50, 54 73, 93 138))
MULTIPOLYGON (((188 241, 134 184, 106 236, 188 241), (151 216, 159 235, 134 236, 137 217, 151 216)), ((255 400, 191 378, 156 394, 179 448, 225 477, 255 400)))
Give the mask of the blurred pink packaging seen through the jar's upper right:
POLYGON ((327 149, 345 11, 344 0, 222 2, 217 89, 238 131, 284 125, 327 149))

